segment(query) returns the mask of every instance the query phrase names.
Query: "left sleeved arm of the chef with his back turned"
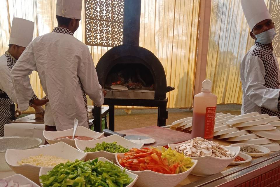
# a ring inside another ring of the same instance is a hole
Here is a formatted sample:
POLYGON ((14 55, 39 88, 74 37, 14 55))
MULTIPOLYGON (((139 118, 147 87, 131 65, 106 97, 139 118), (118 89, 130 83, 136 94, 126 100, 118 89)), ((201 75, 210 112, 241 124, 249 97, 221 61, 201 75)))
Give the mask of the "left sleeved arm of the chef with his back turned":
POLYGON ((29 101, 34 96, 34 91, 29 79, 29 75, 34 70, 37 70, 35 57, 32 44, 29 44, 10 72, 17 103, 22 111, 27 110, 29 101))

